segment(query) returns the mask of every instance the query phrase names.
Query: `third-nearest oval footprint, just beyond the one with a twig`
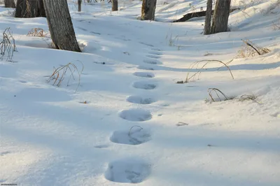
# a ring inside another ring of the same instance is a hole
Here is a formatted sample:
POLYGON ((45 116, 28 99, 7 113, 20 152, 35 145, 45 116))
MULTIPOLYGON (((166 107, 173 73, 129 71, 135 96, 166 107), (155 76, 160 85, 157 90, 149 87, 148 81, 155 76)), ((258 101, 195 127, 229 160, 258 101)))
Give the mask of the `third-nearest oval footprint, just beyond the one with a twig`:
POLYGON ((122 110, 119 116, 124 120, 129 120, 132 122, 144 122, 152 119, 152 115, 148 110, 143 110, 141 108, 132 108, 130 110, 122 110))

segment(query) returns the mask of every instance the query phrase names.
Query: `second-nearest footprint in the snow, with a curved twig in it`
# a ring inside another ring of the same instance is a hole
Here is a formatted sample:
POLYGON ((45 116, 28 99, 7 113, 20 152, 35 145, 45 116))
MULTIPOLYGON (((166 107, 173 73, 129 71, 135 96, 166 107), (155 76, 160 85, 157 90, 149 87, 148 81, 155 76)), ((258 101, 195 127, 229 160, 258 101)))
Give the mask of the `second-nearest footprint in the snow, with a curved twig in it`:
POLYGON ((134 126, 127 131, 114 131, 110 138, 113 143, 126 145, 140 145, 150 140, 150 132, 139 126, 134 126))

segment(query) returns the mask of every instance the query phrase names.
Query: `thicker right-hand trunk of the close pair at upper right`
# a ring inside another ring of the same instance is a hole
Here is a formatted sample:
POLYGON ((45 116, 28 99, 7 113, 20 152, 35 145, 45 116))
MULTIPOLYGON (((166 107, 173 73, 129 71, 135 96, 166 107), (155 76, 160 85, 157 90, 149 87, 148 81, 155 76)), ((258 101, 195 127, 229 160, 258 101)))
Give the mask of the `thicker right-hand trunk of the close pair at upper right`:
POLYGON ((230 16, 231 0, 216 0, 211 34, 228 31, 228 17, 230 16))

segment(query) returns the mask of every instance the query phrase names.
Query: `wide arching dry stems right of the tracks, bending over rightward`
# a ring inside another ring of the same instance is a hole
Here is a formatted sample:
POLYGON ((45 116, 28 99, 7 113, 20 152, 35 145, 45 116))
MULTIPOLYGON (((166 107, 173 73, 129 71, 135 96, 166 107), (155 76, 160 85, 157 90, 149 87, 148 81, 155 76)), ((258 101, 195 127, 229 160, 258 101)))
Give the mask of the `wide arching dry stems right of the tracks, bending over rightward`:
MULTIPOLYGON (((230 62, 232 62, 232 60, 230 60, 230 62)), ((220 64, 223 64, 223 66, 225 66, 228 69, 228 71, 230 71, 230 76, 232 76, 232 79, 235 79, 232 75, 232 71, 230 70, 230 67, 228 67, 228 64, 230 64, 230 62, 225 64, 224 62, 221 62, 220 60, 208 60, 207 59, 207 60, 202 60, 202 61, 199 61, 199 62, 194 62, 193 64, 190 65, 190 69, 198 69, 198 71, 196 73, 194 73, 192 76, 190 76, 190 72, 188 72, 188 75, 187 75, 184 83, 188 83, 190 81, 190 79, 192 79, 192 78, 195 79, 197 77, 197 79, 199 79, 200 78, 200 73, 202 73, 202 70, 204 69, 204 67, 207 66, 207 64, 209 64, 210 62, 218 62, 220 64), (199 68, 198 66, 201 63, 204 63, 204 64, 202 65, 201 68, 199 68)), ((218 68, 217 70, 219 70, 219 69, 221 69, 221 67, 218 68)))

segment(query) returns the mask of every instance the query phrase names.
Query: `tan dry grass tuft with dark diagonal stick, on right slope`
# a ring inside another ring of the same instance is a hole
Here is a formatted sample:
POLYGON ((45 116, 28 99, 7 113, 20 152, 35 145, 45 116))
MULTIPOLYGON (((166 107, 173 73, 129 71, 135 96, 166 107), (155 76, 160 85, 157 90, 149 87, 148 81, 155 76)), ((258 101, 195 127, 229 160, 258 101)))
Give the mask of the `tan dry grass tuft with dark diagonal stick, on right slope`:
POLYGON ((271 52, 268 48, 262 48, 252 41, 242 41, 244 42, 244 45, 242 45, 241 50, 238 51, 237 58, 254 57, 255 55, 265 55, 271 52))

